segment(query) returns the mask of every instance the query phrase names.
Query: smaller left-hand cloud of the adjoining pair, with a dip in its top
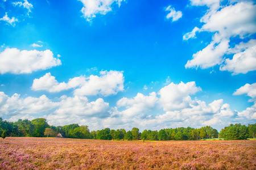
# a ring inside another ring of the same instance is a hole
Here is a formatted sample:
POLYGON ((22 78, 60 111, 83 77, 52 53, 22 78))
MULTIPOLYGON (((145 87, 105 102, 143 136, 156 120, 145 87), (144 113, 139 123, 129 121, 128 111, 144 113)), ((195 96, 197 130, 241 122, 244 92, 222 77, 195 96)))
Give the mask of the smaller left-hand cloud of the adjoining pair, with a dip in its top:
POLYGON ((70 88, 75 88, 85 84, 86 80, 84 76, 75 77, 69 79, 68 83, 59 83, 55 79, 55 76, 52 76, 51 73, 46 73, 39 79, 34 79, 32 84, 32 90, 46 90, 48 92, 60 92, 63 90, 68 90, 70 88))

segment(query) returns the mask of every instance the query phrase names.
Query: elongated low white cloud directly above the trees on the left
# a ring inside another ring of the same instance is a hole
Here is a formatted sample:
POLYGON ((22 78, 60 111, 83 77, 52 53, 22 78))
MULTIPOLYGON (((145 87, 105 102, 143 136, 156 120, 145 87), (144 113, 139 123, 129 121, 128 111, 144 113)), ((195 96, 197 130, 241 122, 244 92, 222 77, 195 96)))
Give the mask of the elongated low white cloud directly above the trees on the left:
POLYGON ((109 104, 99 98, 91 101, 85 96, 61 97, 59 102, 54 102, 45 95, 40 97, 21 98, 19 94, 9 97, 0 92, 0 116, 8 116, 9 121, 19 118, 33 119, 44 115, 50 124, 70 124, 71 120, 77 123, 86 118, 105 118, 110 115, 109 104))

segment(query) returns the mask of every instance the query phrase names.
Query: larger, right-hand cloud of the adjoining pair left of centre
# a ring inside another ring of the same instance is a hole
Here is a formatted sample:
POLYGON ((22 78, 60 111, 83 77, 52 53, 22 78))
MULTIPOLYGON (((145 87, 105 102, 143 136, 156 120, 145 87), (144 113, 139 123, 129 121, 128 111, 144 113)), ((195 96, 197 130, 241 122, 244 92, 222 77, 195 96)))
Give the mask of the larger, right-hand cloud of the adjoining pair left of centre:
POLYGON ((123 91, 124 77, 122 71, 100 71, 100 75, 90 75, 81 88, 74 91, 74 94, 109 96, 123 91))

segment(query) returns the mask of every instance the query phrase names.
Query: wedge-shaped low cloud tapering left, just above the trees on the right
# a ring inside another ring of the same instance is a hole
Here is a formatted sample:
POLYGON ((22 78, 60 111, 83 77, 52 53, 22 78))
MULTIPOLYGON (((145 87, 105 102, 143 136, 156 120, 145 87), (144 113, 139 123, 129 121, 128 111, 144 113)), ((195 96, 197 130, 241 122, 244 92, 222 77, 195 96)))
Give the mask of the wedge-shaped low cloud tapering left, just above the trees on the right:
POLYGON ((230 111, 228 104, 223 104, 222 99, 214 100, 208 105, 204 101, 195 100, 190 108, 184 108, 180 111, 167 111, 164 114, 145 120, 146 123, 144 124, 171 126, 172 128, 178 126, 199 128, 205 125, 221 127, 224 124, 228 125, 226 120, 229 120, 232 116, 234 116, 234 113, 230 111))

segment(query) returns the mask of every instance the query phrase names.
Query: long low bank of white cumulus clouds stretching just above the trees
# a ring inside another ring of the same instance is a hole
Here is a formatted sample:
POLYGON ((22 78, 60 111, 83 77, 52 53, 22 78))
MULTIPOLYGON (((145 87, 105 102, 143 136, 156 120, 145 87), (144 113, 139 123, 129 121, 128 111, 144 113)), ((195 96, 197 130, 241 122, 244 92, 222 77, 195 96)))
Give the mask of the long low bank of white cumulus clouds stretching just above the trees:
MULTIPOLYGON (((51 77, 50 74, 48 76, 51 77)), ((255 83, 245 84, 234 95, 246 94, 255 99, 255 86, 255 83)), ((170 83, 158 93, 151 92, 148 96, 138 93, 132 98, 123 97, 112 108, 101 98, 89 101, 85 96, 64 95, 53 101, 45 95, 21 98, 18 94, 9 97, 0 92, 0 116, 8 116, 9 121, 17 121, 19 118, 37 118, 40 114, 41 117, 44 115, 50 125, 77 123, 89 125, 90 130, 128 130, 134 127, 159 130, 180 126, 200 128, 205 125, 221 129, 231 123, 255 121, 255 103, 245 111, 232 111, 223 99, 209 104, 196 98, 191 99, 190 95, 198 91, 201 88, 195 82, 170 83)))

